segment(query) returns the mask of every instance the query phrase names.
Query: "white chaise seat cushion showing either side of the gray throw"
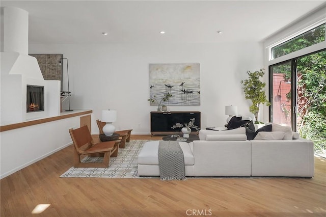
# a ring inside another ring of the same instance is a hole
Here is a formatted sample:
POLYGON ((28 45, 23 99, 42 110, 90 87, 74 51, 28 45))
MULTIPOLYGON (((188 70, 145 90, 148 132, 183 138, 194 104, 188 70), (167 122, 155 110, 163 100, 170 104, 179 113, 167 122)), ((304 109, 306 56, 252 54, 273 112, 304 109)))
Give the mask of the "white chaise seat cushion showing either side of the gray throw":
MULTIPOLYGON (((158 165, 158 143, 159 141, 150 141, 144 144, 138 154, 138 164, 158 165)), ((194 165, 193 152, 186 142, 179 142, 184 156, 184 165, 194 165)))

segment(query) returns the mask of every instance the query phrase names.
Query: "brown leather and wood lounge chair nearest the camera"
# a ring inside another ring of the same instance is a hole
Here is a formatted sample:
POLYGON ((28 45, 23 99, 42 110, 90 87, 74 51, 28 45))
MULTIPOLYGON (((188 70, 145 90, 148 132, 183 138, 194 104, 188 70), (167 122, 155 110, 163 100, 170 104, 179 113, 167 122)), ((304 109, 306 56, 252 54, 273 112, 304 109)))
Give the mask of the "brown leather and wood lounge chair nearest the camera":
POLYGON ((110 166, 110 156, 118 156, 120 140, 94 144, 92 135, 86 125, 77 129, 71 128, 69 129, 69 133, 74 147, 74 167, 106 168, 110 166), (82 155, 94 155, 99 153, 104 154, 102 162, 80 161, 80 156, 82 155))

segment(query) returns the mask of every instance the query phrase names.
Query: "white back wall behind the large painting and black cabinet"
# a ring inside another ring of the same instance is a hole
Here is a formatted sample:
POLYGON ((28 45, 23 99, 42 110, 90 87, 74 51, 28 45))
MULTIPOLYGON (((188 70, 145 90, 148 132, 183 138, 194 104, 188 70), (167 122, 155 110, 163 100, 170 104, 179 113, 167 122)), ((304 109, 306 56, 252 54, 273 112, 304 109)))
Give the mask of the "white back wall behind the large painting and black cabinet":
MULTIPOLYGON (((259 42, 191 44, 30 44, 30 53, 63 53, 69 60, 70 107, 92 109, 92 132, 101 110, 118 112, 116 129, 132 128, 133 134, 150 132, 149 64, 200 63, 201 105, 170 106, 171 111, 200 111, 201 125, 223 126, 225 105, 237 105, 250 115, 240 81, 247 71, 263 68, 259 42), (139 127, 140 125, 140 127, 139 127)), ((64 68, 64 90, 67 89, 64 68)), ((63 108, 67 109, 66 100, 63 108)), ((260 116, 262 117, 262 110, 260 116)), ((267 121, 268 114, 261 120, 267 121)))

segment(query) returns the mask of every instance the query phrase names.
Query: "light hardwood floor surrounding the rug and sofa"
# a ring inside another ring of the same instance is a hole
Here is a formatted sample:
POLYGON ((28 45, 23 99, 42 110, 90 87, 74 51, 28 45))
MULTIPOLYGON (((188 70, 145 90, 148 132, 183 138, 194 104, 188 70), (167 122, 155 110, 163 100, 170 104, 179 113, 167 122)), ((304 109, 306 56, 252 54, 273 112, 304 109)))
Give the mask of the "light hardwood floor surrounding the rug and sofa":
MULTIPOLYGON (((131 135, 131 139, 159 139, 131 135)), ((309 178, 59 178, 72 146, 1 180, 1 216, 326 216, 326 160, 309 178)), ((232 160, 232 159, 230 159, 232 160)))

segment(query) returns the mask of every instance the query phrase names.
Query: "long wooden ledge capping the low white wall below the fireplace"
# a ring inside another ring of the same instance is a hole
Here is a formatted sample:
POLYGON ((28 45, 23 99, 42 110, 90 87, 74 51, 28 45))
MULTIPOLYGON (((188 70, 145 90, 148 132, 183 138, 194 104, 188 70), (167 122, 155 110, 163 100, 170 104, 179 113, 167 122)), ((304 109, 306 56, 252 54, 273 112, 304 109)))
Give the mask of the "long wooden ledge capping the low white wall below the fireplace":
POLYGON ((4 126, 0 126, 0 132, 7 131, 7 130, 12 130, 12 129, 18 129, 21 127, 27 127, 27 126, 32 126, 36 124, 43 124, 46 122, 51 122, 51 121, 57 121, 65 118, 72 118, 80 115, 86 115, 86 114, 91 114, 93 113, 92 110, 76 110, 76 112, 73 113, 65 113, 60 116, 55 116, 55 117, 49 117, 49 118, 42 118, 42 119, 36 119, 36 120, 31 120, 31 121, 25 121, 25 122, 20 122, 20 123, 15 123, 15 124, 8 124, 4 126))

